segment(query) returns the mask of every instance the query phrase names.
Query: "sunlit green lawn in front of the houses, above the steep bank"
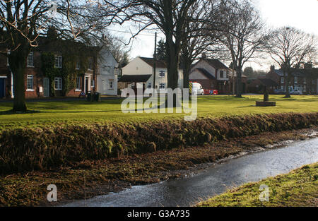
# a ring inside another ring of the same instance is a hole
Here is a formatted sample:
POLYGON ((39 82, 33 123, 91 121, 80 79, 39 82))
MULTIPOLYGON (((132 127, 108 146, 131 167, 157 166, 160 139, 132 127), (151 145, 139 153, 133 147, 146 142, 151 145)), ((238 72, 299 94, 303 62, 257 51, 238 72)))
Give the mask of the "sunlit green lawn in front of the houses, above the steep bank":
MULTIPOLYGON (((289 99, 283 95, 271 95, 270 100, 277 107, 255 107, 262 95, 245 95, 245 98, 232 96, 198 97, 198 117, 223 117, 237 114, 264 114, 281 112, 318 112, 318 96, 294 95, 289 99)), ((12 102, 0 102, 0 130, 28 127, 54 126, 57 124, 92 124, 105 121, 148 121, 154 119, 179 119, 185 114, 123 114, 122 100, 102 102, 60 101, 28 102, 30 113, 13 114, 12 102)))

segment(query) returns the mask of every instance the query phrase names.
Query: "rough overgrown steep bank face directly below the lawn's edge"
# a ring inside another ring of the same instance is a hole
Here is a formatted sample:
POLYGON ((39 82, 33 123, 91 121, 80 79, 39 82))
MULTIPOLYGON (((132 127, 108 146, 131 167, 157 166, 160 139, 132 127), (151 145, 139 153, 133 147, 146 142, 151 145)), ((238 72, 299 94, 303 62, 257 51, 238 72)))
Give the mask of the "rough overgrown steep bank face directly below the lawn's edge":
POLYGON ((317 126, 318 113, 256 114, 196 121, 8 129, 0 134, 0 174, 71 166, 83 160, 203 145, 226 138, 317 126))

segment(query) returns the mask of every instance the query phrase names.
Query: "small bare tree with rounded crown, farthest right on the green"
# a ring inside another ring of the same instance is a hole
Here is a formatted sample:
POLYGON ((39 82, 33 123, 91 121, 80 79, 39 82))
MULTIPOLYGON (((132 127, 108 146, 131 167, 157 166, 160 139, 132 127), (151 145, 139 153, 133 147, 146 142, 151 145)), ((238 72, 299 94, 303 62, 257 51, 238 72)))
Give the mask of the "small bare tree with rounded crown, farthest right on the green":
POLYGON ((295 68, 317 56, 317 37, 295 28, 274 30, 266 44, 266 52, 281 67, 285 82, 285 97, 290 97, 289 84, 295 68))

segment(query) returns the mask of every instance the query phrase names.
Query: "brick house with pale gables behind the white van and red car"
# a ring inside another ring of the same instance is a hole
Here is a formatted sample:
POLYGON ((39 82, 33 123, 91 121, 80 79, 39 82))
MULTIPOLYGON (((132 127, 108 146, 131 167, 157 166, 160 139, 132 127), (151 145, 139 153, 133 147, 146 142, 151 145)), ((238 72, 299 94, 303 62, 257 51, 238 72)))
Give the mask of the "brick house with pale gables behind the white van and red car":
MULTIPOLYGON (((202 58, 191 68, 189 80, 200 83, 204 90, 218 90, 220 94, 231 94, 237 75, 217 59, 202 58)), ((246 92, 247 77, 242 75, 242 92, 246 92)))

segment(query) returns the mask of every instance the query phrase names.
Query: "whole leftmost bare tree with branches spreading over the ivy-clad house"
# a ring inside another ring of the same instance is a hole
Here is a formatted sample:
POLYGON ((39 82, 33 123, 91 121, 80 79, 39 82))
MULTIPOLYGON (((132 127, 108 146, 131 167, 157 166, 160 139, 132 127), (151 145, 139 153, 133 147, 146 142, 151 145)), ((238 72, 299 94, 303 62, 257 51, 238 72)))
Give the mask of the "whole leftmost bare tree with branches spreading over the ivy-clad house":
POLYGON ((61 38, 89 40, 107 18, 100 5, 90 1, 11 0, 0 1, 0 51, 8 56, 13 72, 13 111, 25 112, 25 68, 27 56, 49 27, 61 38), (98 16, 98 13, 103 16, 98 16), (90 32, 90 33, 89 33, 90 32))

